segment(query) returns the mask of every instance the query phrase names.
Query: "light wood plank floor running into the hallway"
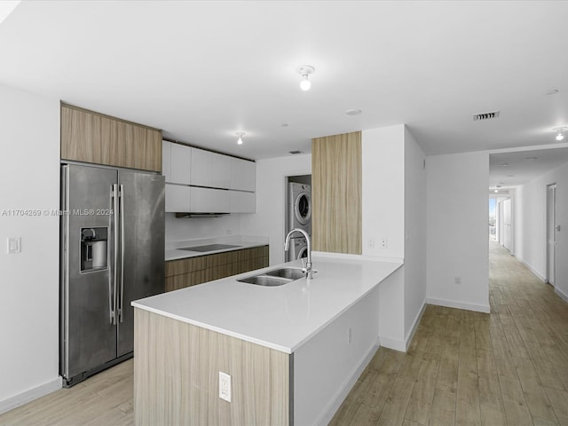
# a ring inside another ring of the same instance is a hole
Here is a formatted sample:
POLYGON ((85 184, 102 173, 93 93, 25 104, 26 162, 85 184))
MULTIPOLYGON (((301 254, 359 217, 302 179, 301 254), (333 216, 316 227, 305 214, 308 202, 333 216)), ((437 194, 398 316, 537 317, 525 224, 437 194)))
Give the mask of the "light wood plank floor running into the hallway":
MULTIPOLYGON (((568 425, 568 304, 490 247, 492 313, 429 305, 408 353, 377 351, 331 425, 568 425)), ((10 426, 133 422, 132 360, 0 415, 10 426)))

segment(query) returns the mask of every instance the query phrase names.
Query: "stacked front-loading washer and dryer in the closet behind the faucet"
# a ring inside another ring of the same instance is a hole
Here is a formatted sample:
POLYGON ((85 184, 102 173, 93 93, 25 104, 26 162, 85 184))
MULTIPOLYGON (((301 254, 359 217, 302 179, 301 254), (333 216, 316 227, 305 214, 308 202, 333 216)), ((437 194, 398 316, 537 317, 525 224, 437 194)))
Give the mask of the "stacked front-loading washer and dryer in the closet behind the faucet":
MULTIPOLYGON (((312 236, 312 186, 290 182, 288 184, 288 224, 286 233, 294 228, 303 229, 312 236)), ((308 242, 301 233, 290 238, 286 261, 308 256, 308 242)))

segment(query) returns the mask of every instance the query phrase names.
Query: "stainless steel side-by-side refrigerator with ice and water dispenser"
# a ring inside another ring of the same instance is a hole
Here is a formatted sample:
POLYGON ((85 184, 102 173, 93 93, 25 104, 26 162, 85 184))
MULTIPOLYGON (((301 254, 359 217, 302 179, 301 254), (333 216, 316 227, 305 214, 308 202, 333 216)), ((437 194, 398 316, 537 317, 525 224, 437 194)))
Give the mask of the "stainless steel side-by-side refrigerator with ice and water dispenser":
POLYGON ((164 177, 61 167, 60 375, 72 386, 132 356, 132 300, 164 288, 164 177))

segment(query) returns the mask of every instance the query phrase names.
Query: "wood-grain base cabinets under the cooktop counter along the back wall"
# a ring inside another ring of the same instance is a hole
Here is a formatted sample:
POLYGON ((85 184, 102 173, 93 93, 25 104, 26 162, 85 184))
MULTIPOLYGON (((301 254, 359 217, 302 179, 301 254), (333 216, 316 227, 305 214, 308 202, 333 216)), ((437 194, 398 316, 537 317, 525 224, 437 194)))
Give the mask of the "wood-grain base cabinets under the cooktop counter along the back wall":
POLYGON ((165 268, 165 291, 264 268, 268 266, 268 253, 268 246, 263 246, 170 260, 165 268))

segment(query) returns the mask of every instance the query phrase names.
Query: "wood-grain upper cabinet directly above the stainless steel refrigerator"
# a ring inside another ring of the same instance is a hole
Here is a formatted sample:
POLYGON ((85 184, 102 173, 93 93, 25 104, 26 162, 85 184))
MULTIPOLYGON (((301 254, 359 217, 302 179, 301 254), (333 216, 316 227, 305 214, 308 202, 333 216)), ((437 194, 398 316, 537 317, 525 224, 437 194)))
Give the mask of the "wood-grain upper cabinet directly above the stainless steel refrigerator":
POLYGON ((62 104, 61 159, 162 171, 162 131, 62 104))

